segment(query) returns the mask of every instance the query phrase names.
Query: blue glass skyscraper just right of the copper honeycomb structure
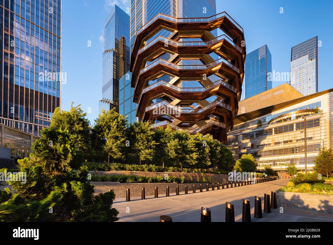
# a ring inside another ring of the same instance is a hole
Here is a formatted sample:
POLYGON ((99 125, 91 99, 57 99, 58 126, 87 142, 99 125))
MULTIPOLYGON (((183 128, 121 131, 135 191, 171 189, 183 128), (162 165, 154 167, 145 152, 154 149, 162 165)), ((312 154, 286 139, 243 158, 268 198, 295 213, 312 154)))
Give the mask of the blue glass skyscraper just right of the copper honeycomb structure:
POLYGON ((272 88, 267 74, 272 72, 272 55, 264 45, 245 58, 245 99, 272 88))

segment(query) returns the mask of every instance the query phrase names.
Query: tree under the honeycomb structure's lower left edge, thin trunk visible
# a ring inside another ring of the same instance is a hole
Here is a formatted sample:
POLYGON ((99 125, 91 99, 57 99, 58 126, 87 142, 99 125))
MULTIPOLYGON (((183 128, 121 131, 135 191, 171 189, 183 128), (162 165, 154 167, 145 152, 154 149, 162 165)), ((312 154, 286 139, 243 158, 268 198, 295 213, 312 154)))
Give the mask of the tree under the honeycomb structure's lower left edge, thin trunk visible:
POLYGON ((134 136, 132 144, 133 152, 141 161, 152 160, 155 153, 154 130, 149 122, 135 122, 130 126, 130 132, 134 136))

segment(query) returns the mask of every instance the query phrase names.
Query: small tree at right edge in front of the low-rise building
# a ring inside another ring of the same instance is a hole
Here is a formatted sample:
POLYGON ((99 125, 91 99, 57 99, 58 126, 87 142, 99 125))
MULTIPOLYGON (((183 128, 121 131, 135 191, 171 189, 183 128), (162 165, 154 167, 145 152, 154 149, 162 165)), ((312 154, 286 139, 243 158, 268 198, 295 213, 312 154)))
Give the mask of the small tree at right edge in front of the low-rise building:
POLYGON ((329 177, 333 173, 333 154, 332 149, 327 149, 326 147, 319 149, 319 154, 313 160, 313 169, 317 173, 325 174, 329 177))

